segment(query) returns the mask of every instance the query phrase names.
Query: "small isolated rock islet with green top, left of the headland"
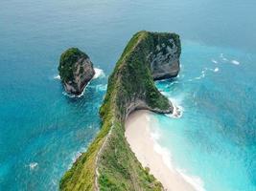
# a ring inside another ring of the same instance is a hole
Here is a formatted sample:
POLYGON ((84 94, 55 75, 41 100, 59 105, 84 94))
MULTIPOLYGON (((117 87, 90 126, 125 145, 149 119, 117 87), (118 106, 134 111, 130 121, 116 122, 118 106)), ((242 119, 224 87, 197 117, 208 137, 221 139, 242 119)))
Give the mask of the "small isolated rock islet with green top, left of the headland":
POLYGON ((95 71, 86 53, 82 53, 78 48, 71 48, 61 54, 58 73, 65 91, 78 96, 92 79, 95 71))

